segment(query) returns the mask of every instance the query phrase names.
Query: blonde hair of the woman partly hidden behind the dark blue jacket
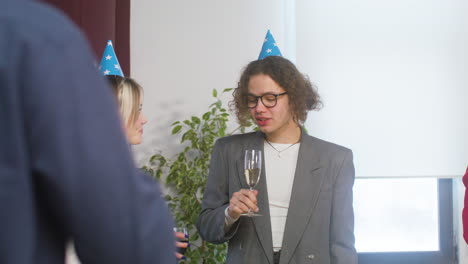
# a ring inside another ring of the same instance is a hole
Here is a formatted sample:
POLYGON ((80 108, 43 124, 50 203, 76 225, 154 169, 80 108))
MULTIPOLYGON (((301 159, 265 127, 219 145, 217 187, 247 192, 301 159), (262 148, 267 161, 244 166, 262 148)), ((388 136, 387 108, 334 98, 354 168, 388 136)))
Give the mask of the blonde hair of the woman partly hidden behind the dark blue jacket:
POLYGON ((132 125, 138 120, 143 99, 143 88, 129 77, 107 75, 112 91, 117 99, 120 115, 125 125, 132 125))

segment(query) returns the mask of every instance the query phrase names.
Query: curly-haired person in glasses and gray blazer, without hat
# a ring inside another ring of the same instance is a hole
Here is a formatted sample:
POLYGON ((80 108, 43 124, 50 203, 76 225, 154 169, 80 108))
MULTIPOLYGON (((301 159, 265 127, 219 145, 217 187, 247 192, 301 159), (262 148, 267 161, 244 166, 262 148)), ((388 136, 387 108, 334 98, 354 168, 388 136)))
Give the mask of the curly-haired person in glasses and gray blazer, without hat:
POLYGON ((356 264, 351 150, 307 135, 307 112, 320 97, 296 66, 278 56, 244 69, 231 102, 257 132, 215 144, 197 227, 212 243, 228 241, 227 263, 356 264), (263 151, 254 191, 244 152, 263 151), (244 217, 249 211, 261 216, 244 217))

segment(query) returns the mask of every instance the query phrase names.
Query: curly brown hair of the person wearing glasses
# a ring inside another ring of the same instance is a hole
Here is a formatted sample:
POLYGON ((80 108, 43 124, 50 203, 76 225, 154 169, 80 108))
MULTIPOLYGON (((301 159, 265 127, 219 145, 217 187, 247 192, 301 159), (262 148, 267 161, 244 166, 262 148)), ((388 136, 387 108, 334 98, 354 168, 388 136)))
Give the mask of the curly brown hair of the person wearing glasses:
POLYGON ((316 87, 306 75, 299 72, 289 60, 279 56, 269 56, 261 60, 250 62, 243 70, 237 88, 232 95, 234 99, 229 103, 231 110, 236 113, 239 124, 248 125, 251 118, 247 106, 249 81, 252 76, 265 74, 281 86, 289 96, 289 107, 294 121, 302 125, 310 110, 318 110, 322 106, 316 87))

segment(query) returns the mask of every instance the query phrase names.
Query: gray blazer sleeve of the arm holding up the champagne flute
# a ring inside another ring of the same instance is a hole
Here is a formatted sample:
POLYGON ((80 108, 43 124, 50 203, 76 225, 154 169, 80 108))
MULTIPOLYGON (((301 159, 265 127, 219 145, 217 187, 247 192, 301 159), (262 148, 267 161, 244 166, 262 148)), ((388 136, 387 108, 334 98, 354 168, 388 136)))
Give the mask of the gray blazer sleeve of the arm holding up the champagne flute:
POLYGON ((225 145, 218 140, 213 148, 210 171, 203 195, 202 211, 198 217, 197 228, 201 237, 211 243, 228 241, 237 231, 239 221, 228 232, 224 230, 224 210, 229 206, 228 164, 224 156, 225 145))

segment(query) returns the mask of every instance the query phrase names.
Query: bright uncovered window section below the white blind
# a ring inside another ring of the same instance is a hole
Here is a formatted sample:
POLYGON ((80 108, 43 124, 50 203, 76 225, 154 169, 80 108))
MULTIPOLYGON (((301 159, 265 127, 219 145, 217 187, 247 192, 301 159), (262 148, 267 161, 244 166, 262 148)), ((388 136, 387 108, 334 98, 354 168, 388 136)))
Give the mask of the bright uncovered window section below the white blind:
POLYGON ((453 263, 452 180, 357 179, 360 264, 453 263))

